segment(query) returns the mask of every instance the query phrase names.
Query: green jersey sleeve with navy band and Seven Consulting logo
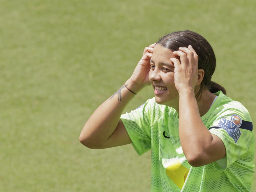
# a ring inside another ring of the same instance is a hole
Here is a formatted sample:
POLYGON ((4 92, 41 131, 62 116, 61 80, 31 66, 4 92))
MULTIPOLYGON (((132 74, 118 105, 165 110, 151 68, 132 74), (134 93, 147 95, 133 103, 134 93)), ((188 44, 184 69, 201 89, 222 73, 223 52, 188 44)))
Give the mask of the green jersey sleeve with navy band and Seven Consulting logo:
POLYGON ((217 135, 226 148, 226 156, 213 163, 219 171, 224 171, 248 151, 253 136, 251 117, 245 108, 224 111, 214 120, 209 131, 217 135))

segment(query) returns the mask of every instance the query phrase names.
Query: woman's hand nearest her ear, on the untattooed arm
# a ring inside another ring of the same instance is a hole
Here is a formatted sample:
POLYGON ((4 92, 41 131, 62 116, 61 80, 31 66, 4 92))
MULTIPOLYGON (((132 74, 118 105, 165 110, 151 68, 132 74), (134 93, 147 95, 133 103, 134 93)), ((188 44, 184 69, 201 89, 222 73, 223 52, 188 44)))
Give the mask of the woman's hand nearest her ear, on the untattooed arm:
POLYGON ((175 87, 180 92, 184 89, 194 90, 197 84, 197 65, 198 55, 191 45, 180 47, 178 51, 174 51, 175 56, 180 57, 180 61, 176 58, 170 58, 174 63, 174 83, 175 87))

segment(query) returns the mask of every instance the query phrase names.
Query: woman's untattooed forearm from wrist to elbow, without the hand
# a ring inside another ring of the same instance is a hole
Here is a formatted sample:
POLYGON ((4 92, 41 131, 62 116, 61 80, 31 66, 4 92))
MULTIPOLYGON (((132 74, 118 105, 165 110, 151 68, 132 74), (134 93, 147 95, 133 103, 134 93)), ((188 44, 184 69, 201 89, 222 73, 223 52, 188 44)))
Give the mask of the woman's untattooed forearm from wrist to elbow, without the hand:
POLYGON ((179 92, 179 137, 188 161, 204 156, 213 139, 201 120, 192 89, 179 92))

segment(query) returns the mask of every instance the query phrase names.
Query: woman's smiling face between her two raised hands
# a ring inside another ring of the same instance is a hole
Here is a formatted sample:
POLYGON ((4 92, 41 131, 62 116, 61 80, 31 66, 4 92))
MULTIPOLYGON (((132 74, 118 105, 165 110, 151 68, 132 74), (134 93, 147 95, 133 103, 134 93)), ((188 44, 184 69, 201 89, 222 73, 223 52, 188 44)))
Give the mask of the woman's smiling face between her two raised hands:
POLYGON ((172 57, 175 57, 173 51, 159 44, 155 45, 148 77, 155 91, 156 102, 177 109, 179 93, 174 84, 174 65, 170 61, 172 57))

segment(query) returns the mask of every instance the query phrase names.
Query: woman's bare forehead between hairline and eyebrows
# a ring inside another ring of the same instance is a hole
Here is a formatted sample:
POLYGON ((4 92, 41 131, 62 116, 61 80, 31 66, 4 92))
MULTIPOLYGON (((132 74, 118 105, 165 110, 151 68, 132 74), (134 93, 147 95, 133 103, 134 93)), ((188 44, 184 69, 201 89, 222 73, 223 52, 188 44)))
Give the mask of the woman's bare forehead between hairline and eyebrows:
POLYGON ((156 46, 154 47, 151 59, 154 62, 164 62, 167 60, 168 60, 168 62, 170 62, 171 57, 175 57, 173 54, 173 51, 171 51, 170 49, 167 49, 159 44, 156 44, 156 46))

